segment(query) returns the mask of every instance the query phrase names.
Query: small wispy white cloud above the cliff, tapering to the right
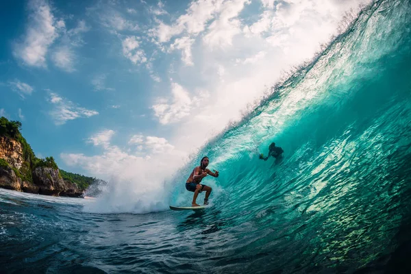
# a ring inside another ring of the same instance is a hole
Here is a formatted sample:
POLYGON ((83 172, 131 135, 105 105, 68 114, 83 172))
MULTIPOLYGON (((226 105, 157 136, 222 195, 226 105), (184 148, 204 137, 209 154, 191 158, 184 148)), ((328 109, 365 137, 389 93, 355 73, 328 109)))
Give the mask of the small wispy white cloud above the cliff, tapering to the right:
POLYGON ((49 102, 53 104, 53 110, 49 113, 53 118, 55 125, 63 125, 69 120, 99 114, 99 112, 95 110, 87 110, 86 108, 78 107, 73 102, 62 98, 53 92, 49 95, 49 102))

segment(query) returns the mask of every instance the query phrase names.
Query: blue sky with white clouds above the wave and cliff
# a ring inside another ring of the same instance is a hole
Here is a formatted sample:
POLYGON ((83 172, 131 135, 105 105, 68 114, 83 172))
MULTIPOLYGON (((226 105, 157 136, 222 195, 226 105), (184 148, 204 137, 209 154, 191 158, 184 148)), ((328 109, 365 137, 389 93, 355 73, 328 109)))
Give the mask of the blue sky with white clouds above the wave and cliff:
POLYGON ((163 179, 367 2, 8 1, 0 115, 66 171, 163 179))

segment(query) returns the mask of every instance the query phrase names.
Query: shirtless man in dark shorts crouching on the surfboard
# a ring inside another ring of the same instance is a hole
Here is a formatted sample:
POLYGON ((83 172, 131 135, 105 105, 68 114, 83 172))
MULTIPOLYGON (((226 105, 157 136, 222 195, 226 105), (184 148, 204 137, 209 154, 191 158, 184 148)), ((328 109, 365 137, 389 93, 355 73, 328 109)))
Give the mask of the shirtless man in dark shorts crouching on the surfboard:
POLYGON ((188 191, 194 192, 194 197, 192 197, 192 206, 200 206, 197 205, 196 200, 199 193, 201 193, 203 190, 206 191, 204 206, 208 205, 208 197, 210 196, 212 188, 210 188, 210 186, 206 186, 205 184, 200 184, 203 177, 206 177, 207 175, 212 175, 212 177, 219 177, 219 171, 214 170, 214 172, 211 172, 209 169, 206 169, 208 162, 210 162, 208 157, 203 157, 200 161, 200 165, 196 166, 195 169, 192 170, 190 177, 188 177, 187 179, 186 189, 188 191))

